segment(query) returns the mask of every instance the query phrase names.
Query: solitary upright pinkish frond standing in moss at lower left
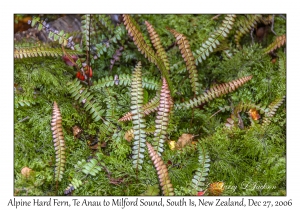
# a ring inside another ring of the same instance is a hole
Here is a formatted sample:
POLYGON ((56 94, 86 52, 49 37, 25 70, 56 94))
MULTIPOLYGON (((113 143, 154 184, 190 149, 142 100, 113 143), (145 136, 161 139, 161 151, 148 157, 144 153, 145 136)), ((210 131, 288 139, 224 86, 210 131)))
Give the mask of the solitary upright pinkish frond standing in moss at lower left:
POLYGON ((61 181, 65 170, 66 156, 65 156, 65 140, 62 131, 62 117, 57 103, 53 103, 53 114, 51 121, 51 130, 53 136, 53 143, 56 154, 55 164, 55 181, 61 181))

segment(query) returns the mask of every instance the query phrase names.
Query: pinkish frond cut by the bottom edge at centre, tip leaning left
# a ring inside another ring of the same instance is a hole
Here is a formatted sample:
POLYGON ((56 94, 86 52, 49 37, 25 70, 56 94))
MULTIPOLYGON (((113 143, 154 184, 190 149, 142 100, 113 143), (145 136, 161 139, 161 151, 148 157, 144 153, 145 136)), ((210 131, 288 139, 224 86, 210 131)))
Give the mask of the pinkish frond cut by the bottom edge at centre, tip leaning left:
POLYGON ((173 186, 169 178, 167 166, 164 164, 162 158, 155 152, 151 144, 149 144, 148 142, 146 142, 146 144, 148 147, 148 152, 151 157, 151 160, 156 168, 157 175, 159 178, 159 183, 162 188, 163 194, 166 196, 175 195, 173 186))

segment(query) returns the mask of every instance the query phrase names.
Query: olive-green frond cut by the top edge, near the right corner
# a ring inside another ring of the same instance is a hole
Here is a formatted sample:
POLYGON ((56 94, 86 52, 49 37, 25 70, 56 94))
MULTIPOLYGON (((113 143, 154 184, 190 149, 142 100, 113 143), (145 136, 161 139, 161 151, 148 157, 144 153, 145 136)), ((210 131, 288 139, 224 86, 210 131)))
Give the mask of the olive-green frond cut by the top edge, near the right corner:
POLYGON ((255 15, 246 15, 246 16, 239 16, 237 25, 239 26, 238 30, 235 34, 235 43, 238 48, 241 48, 240 40, 241 38, 250 32, 252 28, 255 28, 256 25, 260 22, 263 22, 262 15, 255 14, 255 15))

